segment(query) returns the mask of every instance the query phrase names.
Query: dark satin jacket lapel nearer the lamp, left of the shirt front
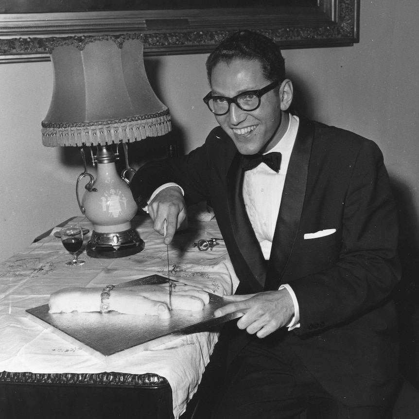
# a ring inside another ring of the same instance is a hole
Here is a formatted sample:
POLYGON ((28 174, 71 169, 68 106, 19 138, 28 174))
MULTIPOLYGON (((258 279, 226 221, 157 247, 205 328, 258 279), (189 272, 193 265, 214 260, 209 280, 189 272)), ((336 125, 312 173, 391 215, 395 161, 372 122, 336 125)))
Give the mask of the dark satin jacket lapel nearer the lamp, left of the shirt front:
POLYGON ((253 227, 247 216, 243 201, 243 171, 241 167, 241 156, 236 153, 227 173, 227 205, 230 215, 231 228, 239 253, 243 261, 240 263, 244 268, 246 278, 240 281, 247 281, 242 288, 248 289, 250 285, 254 292, 262 291, 266 277, 266 262, 263 258, 261 247, 256 238, 253 227), (262 287, 261 287, 262 286, 262 287))

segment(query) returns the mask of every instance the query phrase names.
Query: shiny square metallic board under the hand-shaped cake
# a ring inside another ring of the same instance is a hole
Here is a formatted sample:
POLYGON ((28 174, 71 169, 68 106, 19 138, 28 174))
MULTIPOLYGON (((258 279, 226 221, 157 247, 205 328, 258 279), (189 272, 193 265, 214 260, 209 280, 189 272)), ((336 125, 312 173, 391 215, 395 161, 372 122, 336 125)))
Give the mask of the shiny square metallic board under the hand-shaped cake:
MULTIPOLYGON (((125 282, 121 286, 158 284, 167 281, 167 278, 160 275, 151 275, 125 282)), ((210 294, 210 303, 204 307, 204 310, 199 312, 172 310, 169 319, 117 312, 51 314, 48 313, 48 304, 28 309, 26 315, 45 329, 106 362, 154 348, 182 335, 208 331, 216 325, 236 318, 235 314, 214 317, 214 311, 224 305, 226 302, 222 297, 210 294)))

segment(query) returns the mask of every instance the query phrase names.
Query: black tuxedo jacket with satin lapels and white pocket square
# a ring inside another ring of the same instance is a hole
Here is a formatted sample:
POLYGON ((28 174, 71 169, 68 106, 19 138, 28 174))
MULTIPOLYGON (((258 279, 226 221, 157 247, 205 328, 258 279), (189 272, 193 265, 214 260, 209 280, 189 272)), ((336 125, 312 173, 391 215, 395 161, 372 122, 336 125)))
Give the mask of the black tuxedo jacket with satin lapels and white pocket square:
MULTIPOLYGON (((183 187, 188 204, 210 200, 240 279, 236 293, 293 288, 301 326, 274 333, 270 345, 289 345, 346 404, 386 401, 397 377, 390 295, 400 266, 396 209, 377 145, 300 117, 269 263, 244 209, 241 156, 221 127, 188 156, 144 165, 131 183, 139 206, 168 181, 183 187), (325 229, 336 231, 307 238, 325 229)), ((234 356, 252 337, 230 333, 234 356)))

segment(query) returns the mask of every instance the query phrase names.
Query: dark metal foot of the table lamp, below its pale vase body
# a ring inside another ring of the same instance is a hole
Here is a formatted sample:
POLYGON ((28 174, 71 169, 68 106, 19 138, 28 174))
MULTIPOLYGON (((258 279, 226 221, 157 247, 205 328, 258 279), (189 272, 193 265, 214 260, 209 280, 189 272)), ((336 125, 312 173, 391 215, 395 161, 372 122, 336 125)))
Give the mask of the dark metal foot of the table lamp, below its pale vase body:
POLYGON ((116 233, 98 233, 93 230, 86 246, 91 258, 122 258, 144 250, 144 241, 135 228, 116 233))

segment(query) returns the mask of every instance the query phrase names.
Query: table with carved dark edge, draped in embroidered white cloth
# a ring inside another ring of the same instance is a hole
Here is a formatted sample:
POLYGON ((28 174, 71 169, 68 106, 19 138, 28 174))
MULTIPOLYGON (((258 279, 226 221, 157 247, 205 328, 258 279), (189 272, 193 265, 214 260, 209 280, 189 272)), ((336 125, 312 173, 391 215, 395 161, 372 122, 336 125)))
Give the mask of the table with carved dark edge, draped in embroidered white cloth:
MULTIPOLYGON (((71 222, 90 230, 85 238, 86 245, 92 230, 90 222, 84 216, 75 217, 71 222)), ((11 419, 10 415, 21 417, 22 403, 12 405, 10 398, 18 397, 22 401, 26 393, 35 395, 31 403, 38 403, 36 408, 39 409, 42 397, 51 397, 51 394, 58 397, 59 393, 58 404, 60 400, 66 401, 66 409, 71 411, 68 417, 72 419, 83 409, 80 418, 111 418, 109 409, 115 403, 116 411, 121 413, 115 417, 132 416, 135 411, 139 418, 177 419, 185 411, 217 342, 217 330, 184 335, 107 362, 35 324, 25 315, 26 309, 48 303, 51 293, 61 288, 104 287, 153 274, 167 277, 166 246, 153 230, 151 220, 148 216, 137 216, 133 225, 145 242, 145 249, 133 256, 95 259, 83 252, 81 257, 86 263, 68 267, 64 263, 70 260, 70 254, 54 236, 59 230, 56 227, 46 237, 0 263, 0 371, 3 371, 0 373, 0 409, 4 411, 7 407, 11 419), (17 394, 17 385, 24 388, 20 392, 23 395, 17 394), (51 386, 54 391, 50 394, 51 386), (47 389, 46 393, 41 392, 41 388, 47 389), (169 395, 168 388, 171 389, 169 395), (88 399, 95 401, 90 403, 92 406, 87 406, 88 400, 80 401, 80 389, 89 389, 88 399), (137 393, 130 397, 133 389, 137 393), (151 389, 153 391, 149 391, 151 389), (127 404, 130 408, 124 414, 121 409, 127 404), (151 414, 147 409, 158 412, 151 414)), ((220 296, 231 294, 238 279, 224 242, 221 240, 208 251, 199 251, 192 245, 199 239, 212 237, 221 237, 214 219, 190 221, 185 231, 177 233, 169 245, 170 277, 198 284, 220 296)), ((44 402, 51 404, 51 400, 44 402)), ((30 412, 35 417, 35 407, 30 412)))

